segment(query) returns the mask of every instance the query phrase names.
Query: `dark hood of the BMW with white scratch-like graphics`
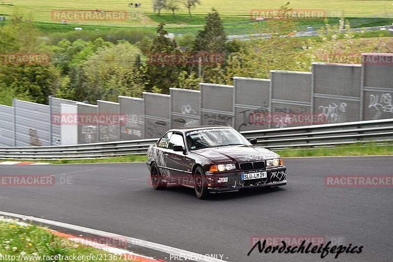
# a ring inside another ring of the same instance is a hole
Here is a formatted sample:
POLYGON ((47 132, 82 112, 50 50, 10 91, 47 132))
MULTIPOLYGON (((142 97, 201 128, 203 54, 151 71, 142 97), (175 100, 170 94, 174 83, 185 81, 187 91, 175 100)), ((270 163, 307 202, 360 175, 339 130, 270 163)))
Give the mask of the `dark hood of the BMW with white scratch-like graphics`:
POLYGON ((259 161, 280 157, 269 149, 257 146, 218 146, 198 149, 194 153, 215 163, 259 161))

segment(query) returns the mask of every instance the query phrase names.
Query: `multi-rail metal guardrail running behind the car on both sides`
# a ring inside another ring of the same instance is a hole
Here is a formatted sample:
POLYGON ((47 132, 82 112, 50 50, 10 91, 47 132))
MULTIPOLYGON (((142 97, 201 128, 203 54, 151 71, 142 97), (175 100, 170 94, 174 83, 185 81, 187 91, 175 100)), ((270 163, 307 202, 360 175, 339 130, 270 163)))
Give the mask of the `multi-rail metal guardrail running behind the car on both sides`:
MULTIPOLYGON (((241 133, 246 138, 256 138, 258 146, 269 149, 393 141, 393 118, 253 130, 241 133)), ((58 160, 145 154, 148 146, 156 141, 157 139, 145 139, 75 146, 0 147, 0 159, 58 160)))

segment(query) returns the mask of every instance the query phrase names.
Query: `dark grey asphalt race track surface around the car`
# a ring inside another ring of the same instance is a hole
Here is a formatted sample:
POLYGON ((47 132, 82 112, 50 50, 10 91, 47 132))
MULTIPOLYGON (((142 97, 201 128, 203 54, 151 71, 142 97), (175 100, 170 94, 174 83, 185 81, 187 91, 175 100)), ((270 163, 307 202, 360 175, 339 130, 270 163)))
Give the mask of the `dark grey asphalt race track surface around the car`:
POLYGON ((56 175, 71 177, 71 184, 2 186, 0 210, 199 254, 224 254, 223 260, 231 262, 392 261, 393 188, 324 184, 325 175, 392 175, 392 156, 292 158, 284 164, 284 187, 217 194, 206 201, 191 188, 155 191, 144 163, 1 166, 0 175, 56 175), (323 260, 320 254, 259 254, 257 249, 247 256, 253 237, 281 235, 325 236, 364 248, 338 259, 333 254, 323 260))

